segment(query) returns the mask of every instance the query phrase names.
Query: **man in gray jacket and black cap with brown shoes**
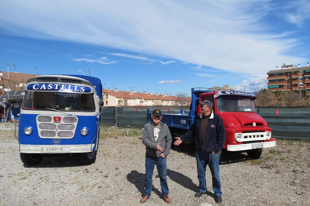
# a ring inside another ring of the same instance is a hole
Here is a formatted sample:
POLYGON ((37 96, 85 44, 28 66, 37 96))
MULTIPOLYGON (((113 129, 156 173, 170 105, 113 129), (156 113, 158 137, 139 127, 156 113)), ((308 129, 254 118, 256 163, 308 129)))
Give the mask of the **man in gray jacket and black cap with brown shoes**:
POLYGON ((152 177, 155 165, 157 166, 162 188, 162 199, 170 203, 168 197, 169 188, 167 183, 166 157, 170 152, 172 143, 171 134, 166 124, 162 123, 162 112, 154 109, 152 114, 153 122, 147 123, 142 132, 142 142, 145 144, 145 190, 143 191, 140 203, 146 202, 150 198, 152 191, 152 177))

